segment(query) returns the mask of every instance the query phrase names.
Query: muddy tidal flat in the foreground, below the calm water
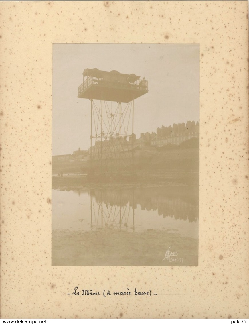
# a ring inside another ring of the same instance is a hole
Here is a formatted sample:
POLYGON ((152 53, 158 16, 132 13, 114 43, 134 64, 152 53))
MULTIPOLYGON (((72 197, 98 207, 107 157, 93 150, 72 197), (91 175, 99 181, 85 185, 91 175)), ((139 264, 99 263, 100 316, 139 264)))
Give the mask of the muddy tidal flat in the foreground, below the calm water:
POLYGON ((166 230, 54 230, 52 251, 52 265, 57 266, 198 265, 198 240, 166 230), (168 250, 174 255, 165 258, 168 250))

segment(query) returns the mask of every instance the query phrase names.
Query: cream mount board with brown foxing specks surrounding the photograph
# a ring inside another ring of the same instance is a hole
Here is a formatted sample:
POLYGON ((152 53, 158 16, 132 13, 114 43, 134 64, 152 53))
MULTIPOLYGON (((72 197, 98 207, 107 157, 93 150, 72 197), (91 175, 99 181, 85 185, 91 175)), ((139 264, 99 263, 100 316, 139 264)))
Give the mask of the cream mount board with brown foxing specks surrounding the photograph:
POLYGON ((0 7, 2 318, 248 317, 248 3, 0 7), (66 43, 199 44, 198 266, 52 265, 52 50, 66 43))

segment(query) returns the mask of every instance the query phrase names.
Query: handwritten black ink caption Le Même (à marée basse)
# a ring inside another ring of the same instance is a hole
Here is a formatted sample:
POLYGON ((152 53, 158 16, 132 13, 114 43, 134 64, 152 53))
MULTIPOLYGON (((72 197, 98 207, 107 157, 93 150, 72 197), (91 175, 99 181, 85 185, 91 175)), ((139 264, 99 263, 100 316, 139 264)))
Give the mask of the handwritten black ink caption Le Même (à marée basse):
POLYGON ((134 291, 130 291, 129 288, 127 288, 125 291, 113 291, 111 292, 110 290, 103 290, 103 292, 100 291, 93 291, 92 289, 79 289, 79 287, 75 287, 74 291, 70 294, 67 295, 74 295, 74 296, 148 296, 151 297, 153 294, 151 290, 148 291, 138 291, 137 288, 135 288, 134 291))

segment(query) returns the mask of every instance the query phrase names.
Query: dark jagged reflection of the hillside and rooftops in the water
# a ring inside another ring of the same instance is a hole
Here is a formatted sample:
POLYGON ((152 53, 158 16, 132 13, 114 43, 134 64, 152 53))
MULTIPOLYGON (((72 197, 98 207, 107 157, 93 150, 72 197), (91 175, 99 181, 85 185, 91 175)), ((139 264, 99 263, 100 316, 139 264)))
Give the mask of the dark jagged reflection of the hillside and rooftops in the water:
MULTIPOLYGON (((95 190, 90 192, 96 202, 106 208, 117 206, 122 209, 120 214, 127 209, 127 204, 136 209, 137 204, 141 210, 157 211, 158 215, 173 217, 174 219, 188 220, 198 219, 198 191, 192 187, 170 187, 170 188, 141 188, 126 190, 95 190), (121 208, 123 207, 123 208, 121 208)), ((130 208, 128 208, 128 214, 130 208)))

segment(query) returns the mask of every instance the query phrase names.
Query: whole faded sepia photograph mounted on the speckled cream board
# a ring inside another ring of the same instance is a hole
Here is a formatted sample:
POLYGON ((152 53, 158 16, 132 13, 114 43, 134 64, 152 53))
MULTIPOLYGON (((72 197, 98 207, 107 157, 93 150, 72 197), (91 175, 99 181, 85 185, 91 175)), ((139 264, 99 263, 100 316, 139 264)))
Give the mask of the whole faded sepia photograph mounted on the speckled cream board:
POLYGON ((52 265, 198 266, 199 55, 53 44, 52 265))

